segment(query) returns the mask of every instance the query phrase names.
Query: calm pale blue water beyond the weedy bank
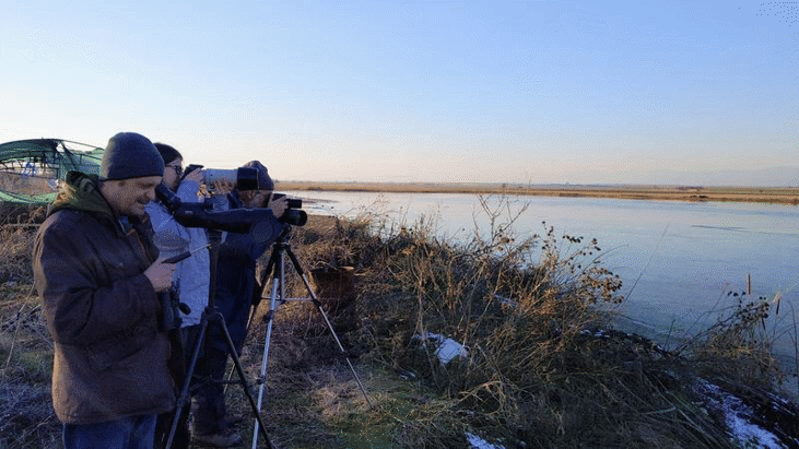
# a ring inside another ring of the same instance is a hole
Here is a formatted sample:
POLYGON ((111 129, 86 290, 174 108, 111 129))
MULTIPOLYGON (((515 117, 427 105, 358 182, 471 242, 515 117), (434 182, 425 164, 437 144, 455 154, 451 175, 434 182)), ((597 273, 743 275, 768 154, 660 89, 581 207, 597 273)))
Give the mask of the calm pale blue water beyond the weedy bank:
MULTIPOLYGON (((470 238, 489 217, 477 196, 448 193, 290 192, 309 213, 354 215, 377 211, 398 223, 434 221, 436 234, 470 238), (312 200, 316 200, 312 203, 312 200)), ((496 208, 497 198, 489 201, 496 208)), ((604 267, 619 274, 625 302, 622 326, 663 342, 716 322, 749 288, 753 297, 779 297, 769 329, 783 334, 775 352, 794 357, 794 312, 799 314, 797 262, 799 209, 762 203, 643 201, 513 197, 510 213, 527 209, 514 229, 519 237, 544 231, 597 238, 604 267)), ((672 340, 673 341, 673 340, 672 340)))

